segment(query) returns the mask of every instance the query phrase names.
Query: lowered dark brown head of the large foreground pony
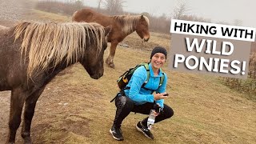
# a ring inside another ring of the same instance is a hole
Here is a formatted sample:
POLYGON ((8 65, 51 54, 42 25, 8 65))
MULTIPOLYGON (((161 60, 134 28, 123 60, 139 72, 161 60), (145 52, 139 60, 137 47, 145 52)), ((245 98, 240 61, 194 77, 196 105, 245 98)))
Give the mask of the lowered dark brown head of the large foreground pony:
POLYGON ((111 27, 103 27, 97 23, 93 24, 95 29, 89 30, 90 37, 86 38, 86 53, 83 55, 80 63, 90 74, 91 78, 101 78, 104 72, 104 50, 107 47, 107 34, 109 34, 111 27))

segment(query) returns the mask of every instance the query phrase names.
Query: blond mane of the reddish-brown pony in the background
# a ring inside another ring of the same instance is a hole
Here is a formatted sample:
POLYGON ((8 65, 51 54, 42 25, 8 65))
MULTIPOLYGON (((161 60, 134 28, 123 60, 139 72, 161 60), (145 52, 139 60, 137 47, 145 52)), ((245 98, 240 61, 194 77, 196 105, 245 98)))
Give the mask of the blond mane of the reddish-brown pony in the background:
MULTIPOLYGON (((130 34, 136 29, 136 25, 139 22, 139 18, 142 15, 115 15, 113 16, 114 20, 118 22, 118 25, 122 27, 122 32, 125 34, 130 34)), ((147 25, 150 25, 149 18, 143 15, 145 18, 147 25)))

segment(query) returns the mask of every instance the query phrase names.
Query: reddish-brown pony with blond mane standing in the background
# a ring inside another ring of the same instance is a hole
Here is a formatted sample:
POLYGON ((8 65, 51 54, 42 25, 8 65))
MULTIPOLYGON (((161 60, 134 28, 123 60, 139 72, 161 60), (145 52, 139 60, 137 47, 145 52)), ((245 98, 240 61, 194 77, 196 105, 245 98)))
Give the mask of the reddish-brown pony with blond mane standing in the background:
POLYGON ((147 42, 150 38, 149 19, 143 15, 116 15, 107 16, 90 9, 74 12, 72 21, 75 22, 98 22, 102 26, 112 26, 107 41, 111 42, 110 53, 106 58, 106 64, 114 68, 114 54, 119 42, 135 30, 140 38, 147 42))

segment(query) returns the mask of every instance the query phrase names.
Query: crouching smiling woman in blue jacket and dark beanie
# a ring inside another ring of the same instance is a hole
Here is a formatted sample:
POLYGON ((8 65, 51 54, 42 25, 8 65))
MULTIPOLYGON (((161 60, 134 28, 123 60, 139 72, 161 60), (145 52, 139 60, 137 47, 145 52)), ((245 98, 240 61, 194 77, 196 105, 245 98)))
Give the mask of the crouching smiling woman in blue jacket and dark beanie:
MULTIPOLYGON (((161 122, 162 120, 174 115, 172 108, 164 104, 164 99, 167 98, 167 75, 163 73, 161 67, 166 62, 166 58, 166 49, 160 46, 155 47, 150 55, 150 78, 148 82, 146 82, 146 68, 144 66, 140 66, 134 71, 130 82, 126 86, 127 88, 118 93, 115 98, 115 106, 117 107, 117 110, 113 126, 110 129, 110 134, 112 134, 114 139, 118 141, 122 141, 124 139, 122 136, 121 125, 124 118, 126 118, 131 111, 149 115, 150 110, 158 106, 161 112, 158 111, 158 113, 155 114, 156 118, 154 123, 161 122), (159 86, 162 74, 165 74, 164 80, 162 85, 159 86), (143 85, 144 82, 146 82, 145 86, 143 85)), ((139 132, 142 132, 146 138, 154 139, 154 135, 147 127, 147 119, 148 117, 139 121, 136 125, 136 129, 139 132)))

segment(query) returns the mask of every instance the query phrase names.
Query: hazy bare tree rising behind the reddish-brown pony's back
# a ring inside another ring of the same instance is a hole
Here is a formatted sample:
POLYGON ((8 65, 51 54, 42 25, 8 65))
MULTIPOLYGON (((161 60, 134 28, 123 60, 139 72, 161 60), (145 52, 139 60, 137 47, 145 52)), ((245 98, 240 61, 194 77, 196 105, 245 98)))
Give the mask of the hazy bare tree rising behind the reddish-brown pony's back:
POLYGON ((122 14, 122 8, 125 2, 125 0, 105 0, 103 2, 103 6, 109 14, 122 14))

